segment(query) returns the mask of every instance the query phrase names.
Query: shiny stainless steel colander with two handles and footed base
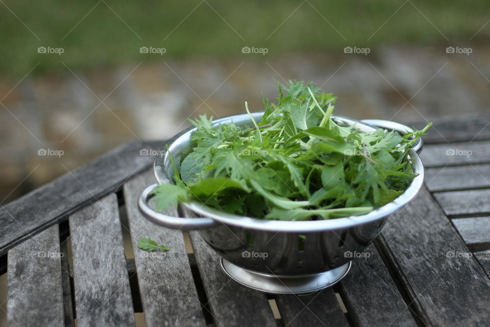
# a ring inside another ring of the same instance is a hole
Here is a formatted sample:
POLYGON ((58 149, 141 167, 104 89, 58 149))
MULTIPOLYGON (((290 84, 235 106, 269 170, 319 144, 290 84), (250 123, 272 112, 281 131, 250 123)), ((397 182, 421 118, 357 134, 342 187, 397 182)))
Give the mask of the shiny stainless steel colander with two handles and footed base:
MULTIPOLYGON (((253 113, 260 120, 263 112, 253 113)), ((407 126, 382 120, 355 121, 333 116, 341 126, 353 124, 363 132, 382 127, 399 132, 411 131, 407 126)), ((214 125, 233 122, 252 125, 247 114, 228 116, 214 125)), ((191 150, 190 128, 169 141, 168 152, 155 160, 158 183, 174 182, 174 169, 169 153, 176 162, 191 150)), ((185 217, 170 217, 155 212, 148 204, 157 184, 143 191, 138 201, 142 215, 168 228, 199 230, 202 238, 221 257, 222 267, 235 281, 270 293, 306 293, 332 286, 349 271, 351 260, 363 257, 362 250, 378 233, 388 215, 398 211, 420 191, 424 167, 418 155, 420 140, 408 159, 418 174, 408 189, 394 201, 369 214, 316 221, 261 220, 220 212, 200 202, 181 203, 185 217)))

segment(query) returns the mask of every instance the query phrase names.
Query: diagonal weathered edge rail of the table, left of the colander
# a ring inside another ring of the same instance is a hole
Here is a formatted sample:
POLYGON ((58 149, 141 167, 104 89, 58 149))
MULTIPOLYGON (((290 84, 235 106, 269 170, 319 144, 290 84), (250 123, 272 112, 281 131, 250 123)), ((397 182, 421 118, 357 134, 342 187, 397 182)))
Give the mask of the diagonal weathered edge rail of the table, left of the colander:
POLYGON ((120 146, 5 206, 0 205, 0 255, 118 189, 129 176, 152 165, 154 157, 140 155, 140 150, 158 149, 162 144, 132 142, 120 146), (36 219, 32 219, 32 213, 36 213, 36 219))

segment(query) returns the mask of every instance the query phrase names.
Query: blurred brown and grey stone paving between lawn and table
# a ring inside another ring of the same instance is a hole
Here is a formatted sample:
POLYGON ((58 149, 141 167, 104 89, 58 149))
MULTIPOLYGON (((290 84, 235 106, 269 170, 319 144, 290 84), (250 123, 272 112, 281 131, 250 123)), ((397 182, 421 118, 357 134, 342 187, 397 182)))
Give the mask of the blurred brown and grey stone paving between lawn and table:
POLYGON ((198 114, 263 108, 288 79, 312 80, 356 119, 431 120, 490 108, 490 48, 386 47, 368 56, 298 54, 137 63, 0 81, 0 203, 131 139, 162 139, 198 114), (6 96, 5 96, 6 95, 6 96), (5 97, 4 97, 5 96, 5 97), (46 151, 42 151, 46 150, 46 151), (50 151, 48 151, 50 150, 50 151), (46 155, 43 155, 46 154, 46 155))

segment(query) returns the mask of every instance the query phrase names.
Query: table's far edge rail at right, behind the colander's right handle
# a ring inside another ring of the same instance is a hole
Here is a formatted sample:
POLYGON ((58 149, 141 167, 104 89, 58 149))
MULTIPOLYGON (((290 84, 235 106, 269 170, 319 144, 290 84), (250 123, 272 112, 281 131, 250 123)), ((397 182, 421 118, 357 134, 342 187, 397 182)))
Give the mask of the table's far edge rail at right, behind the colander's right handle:
MULTIPOLYGON (((431 118, 428 117, 428 119, 431 118)), ((427 135, 424 135, 426 144, 490 139, 490 115, 488 114, 437 116, 433 122, 432 128, 428 130, 427 135)), ((427 125, 425 120, 403 123, 418 129, 427 125)))

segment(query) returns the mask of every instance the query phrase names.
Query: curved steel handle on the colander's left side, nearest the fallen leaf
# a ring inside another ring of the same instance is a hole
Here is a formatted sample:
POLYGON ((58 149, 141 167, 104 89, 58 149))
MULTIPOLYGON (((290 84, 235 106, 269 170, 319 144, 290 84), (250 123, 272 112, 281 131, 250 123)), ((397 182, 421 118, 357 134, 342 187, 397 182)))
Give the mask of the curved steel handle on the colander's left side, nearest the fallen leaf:
POLYGON ((218 224, 218 222, 211 218, 172 217, 154 211, 148 204, 148 201, 153 197, 152 192, 157 186, 158 184, 148 186, 138 199, 139 211, 146 219, 160 226, 180 230, 204 229, 214 227, 218 224))

